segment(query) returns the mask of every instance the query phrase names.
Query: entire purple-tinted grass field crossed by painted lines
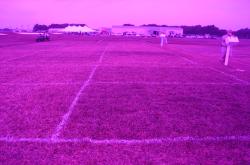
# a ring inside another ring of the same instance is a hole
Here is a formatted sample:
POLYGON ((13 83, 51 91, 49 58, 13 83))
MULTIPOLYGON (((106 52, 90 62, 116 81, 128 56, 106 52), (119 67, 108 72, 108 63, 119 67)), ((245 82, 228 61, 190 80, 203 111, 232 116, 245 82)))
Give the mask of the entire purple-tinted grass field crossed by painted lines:
POLYGON ((0 36, 0 164, 250 164, 250 41, 0 36))

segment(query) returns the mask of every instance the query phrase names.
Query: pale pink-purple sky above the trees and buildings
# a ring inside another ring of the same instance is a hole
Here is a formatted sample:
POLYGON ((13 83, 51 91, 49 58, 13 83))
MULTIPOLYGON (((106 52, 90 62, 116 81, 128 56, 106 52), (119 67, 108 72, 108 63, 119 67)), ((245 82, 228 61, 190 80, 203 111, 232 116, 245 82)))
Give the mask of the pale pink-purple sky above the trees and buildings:
POLYGON ((85 23, 250 28, 250 0, 0 0, 0 28, 85 23))

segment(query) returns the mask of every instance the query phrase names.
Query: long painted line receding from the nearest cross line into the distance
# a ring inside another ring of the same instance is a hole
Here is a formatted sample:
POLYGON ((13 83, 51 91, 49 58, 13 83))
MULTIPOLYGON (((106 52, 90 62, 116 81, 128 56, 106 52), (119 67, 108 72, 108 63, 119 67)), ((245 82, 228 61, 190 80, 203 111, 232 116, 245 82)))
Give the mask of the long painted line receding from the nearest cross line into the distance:
POLYGON ((63 130, 63 128, 65 127, 65 125, 68 123, 68 120, 74 110, 74 107, 76 106, 79 98, 80 98, 80 95, 83 93, 83 91, 86 89, 86 87, 89 85, 91 79, 93 78, 95 72, 96 72, 96 69, 100 66, 100 64, 102 63, 102 60, 103 60, 103 57, 104 57, 104 54, 105 52, 107 51, 107 46, 105 47, 104 51, 102 52, 99 60, 98 60, 98 63, 94 66, 94 68, 92 69, 87 81, 84 81, 83 85, 81 86, 80 90, 78 91, 78 93, 76 94, 73 102, 71 103, 70 107, 69 107, 69 110, 68 112, 62 117, 62 121, 59 123, 59 125, 56 127, 56 130, 55 132, 52 134, 52 139, 57 139, 60 134, 61 134, 61 131, 63 130))

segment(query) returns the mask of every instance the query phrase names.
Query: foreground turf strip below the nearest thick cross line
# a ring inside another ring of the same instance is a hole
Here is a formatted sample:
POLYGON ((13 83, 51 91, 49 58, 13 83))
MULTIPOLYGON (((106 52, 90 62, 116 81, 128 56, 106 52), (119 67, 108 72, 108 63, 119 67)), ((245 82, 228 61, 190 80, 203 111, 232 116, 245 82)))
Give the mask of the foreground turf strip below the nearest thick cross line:
POLYGON ((240 164, 250 161, 244 142, 167 144, 0 143, 1 164, 240 164))

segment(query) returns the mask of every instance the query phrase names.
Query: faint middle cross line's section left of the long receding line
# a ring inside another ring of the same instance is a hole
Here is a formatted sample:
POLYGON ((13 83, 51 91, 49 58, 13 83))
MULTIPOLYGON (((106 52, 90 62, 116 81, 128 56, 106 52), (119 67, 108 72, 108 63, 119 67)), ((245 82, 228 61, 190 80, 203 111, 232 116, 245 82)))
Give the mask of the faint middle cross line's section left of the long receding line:
POLYGON ((52 83, 0 83, 2 86, 57 86, 57 85, 81 85, 82 82, 52 82, 52 83))

